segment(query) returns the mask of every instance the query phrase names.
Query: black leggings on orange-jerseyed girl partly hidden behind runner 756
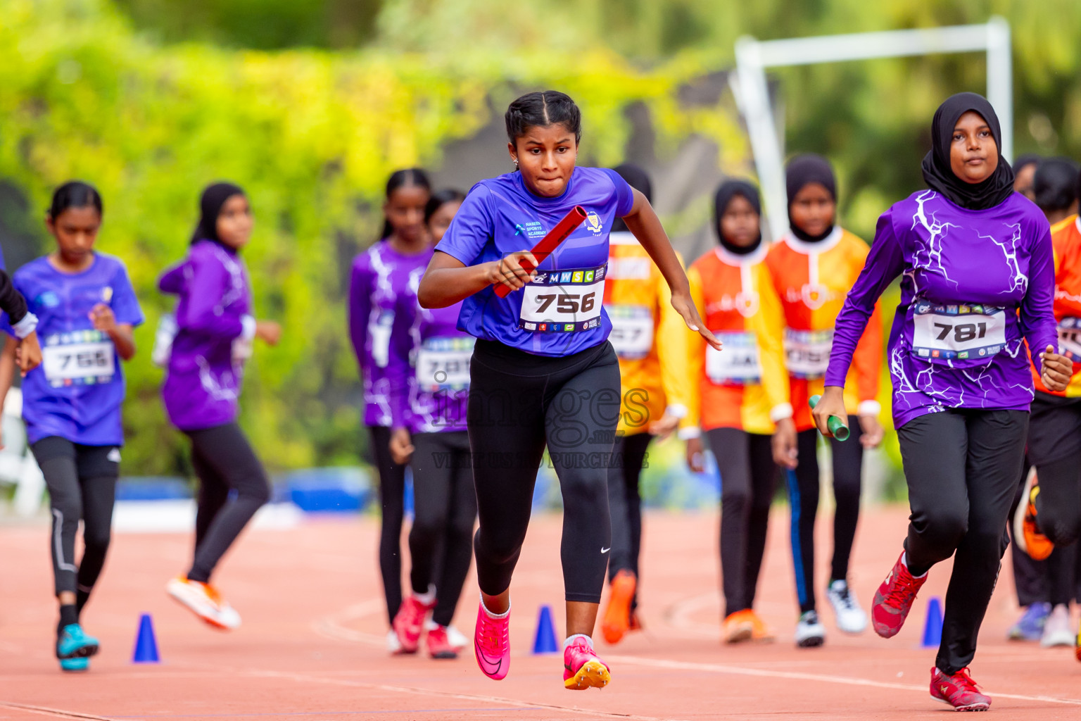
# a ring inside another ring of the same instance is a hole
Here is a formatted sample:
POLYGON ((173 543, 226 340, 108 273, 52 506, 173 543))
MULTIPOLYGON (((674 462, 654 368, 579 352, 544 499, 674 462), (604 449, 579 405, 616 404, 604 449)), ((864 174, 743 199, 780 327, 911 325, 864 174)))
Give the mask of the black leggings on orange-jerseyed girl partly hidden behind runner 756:
MULTIPOLYGON (((609 512, 612 518, 612 558, 609 580, 620 571, 639 576, 638 557, 642 549, 642 495, 638 486, 645 464, 646 449, 653 436, 633 433, 617 436, 612 445, 612 464, 608 470, 609 512)), ((638 593, 631 609, 638 607, 638 593)))

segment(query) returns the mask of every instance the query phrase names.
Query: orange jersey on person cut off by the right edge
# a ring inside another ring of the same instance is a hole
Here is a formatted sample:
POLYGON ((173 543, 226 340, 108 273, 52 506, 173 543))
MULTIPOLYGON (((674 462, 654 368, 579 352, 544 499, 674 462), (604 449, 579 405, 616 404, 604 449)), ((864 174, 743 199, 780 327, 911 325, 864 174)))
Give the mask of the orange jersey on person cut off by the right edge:
MULTIPOLYGON (((1032 366, 1036 389, 1054 396, 1081 396, 1081 218, 1071 215, 1051 227, 1055 249, 1055 320, 1058 321, 1058 351, 1073 361, 1073 377, 1065 391, 1047 390, 1032 366)), ((1032 348, 1039 355, 1043 348, 1032 348)))

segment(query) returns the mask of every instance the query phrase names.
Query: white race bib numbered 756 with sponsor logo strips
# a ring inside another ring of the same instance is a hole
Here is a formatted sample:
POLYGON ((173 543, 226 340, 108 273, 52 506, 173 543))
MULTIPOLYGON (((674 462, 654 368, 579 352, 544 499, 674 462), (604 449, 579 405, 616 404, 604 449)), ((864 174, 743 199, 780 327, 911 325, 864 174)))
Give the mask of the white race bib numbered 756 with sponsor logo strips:
POLYGON ((531 333, 574 333, 600 328, 606 265, 539 270, 525 285, 518 328, 531 333))

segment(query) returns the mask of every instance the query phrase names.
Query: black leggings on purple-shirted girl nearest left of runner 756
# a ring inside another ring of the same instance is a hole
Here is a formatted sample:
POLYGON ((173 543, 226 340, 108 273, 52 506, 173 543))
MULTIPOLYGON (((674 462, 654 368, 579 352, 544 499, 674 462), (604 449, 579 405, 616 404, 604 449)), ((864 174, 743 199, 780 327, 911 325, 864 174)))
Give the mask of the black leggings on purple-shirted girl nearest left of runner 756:
POLYGON ((469 462, 469 435, 462 430, 413 437, 415 516, 409 534, 413 591, 436 586, 431 619, 450 626, 472 560, 477 492, 469 462), (440 568, 441 566, 441 568, 440 568))

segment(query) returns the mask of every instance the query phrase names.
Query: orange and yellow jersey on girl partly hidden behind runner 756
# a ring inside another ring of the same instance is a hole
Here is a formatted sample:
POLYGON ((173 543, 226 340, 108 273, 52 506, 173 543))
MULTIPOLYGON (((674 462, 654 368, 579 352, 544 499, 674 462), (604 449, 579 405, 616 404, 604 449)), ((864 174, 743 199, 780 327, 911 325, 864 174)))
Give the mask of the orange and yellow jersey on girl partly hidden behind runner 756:
POLYGON ((692 333, 672 308, 660 269, 626 231, 609 237, 604 309, 612 321, 609 341, 619 358, 623 403, 616 432, 646 432, 666 411, 684 427, 686 344, 692 333))

